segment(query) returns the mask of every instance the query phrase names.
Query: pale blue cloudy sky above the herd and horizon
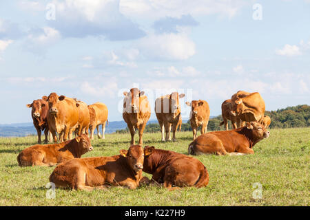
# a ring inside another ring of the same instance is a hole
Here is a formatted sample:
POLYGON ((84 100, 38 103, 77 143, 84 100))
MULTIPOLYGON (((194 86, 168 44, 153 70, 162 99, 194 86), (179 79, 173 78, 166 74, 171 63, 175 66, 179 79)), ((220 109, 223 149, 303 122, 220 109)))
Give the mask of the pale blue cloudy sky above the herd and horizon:
POLYGON ((198 99, 220 115, 238 90, 269 111, 310 104, 310 0, 0 1, 0 124, 32 122, 25 105, 51 92, 121 121, 132 87, 152 109, 185 93, 183 118, 198 99))

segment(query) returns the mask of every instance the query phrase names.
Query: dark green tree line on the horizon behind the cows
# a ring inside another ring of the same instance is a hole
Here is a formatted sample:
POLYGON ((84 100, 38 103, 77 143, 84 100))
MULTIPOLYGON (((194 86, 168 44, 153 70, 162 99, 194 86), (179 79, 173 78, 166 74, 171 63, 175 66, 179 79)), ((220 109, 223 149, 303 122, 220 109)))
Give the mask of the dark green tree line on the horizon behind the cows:
MULTIPOLYGON (((286 129, 296 127, 310 126, 310 106, 307 104, 298 105, 296 107, 287 107, 286 109, 278 109, 277 111, 265 111, 265 115, 271 118, 271 129, 286 129)), ((223 131, 224 126, 220 126, 223 121, 222 115, 211 118, 208 124, 208 131, 223 131)), ((199 128, 201 129, 201 128, 199 128)), ((231 122, 229 122, 231 129, 231 122)), ((155 133, 160 132, 159 124, 147 124, 144 132, 155 133)), ((189 120, 182 124, 181 131, 192 131, 192 126, 189 120)), ((128 128, 117 130, 116 133, 128 133, 128 128)))

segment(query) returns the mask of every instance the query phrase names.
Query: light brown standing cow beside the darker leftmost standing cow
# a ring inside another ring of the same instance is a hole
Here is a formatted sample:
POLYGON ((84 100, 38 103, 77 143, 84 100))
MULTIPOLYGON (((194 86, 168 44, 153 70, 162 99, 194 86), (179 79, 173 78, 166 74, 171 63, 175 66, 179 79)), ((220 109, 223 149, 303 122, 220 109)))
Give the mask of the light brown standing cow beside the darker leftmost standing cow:
POLYGON ((56 133, 59 133, 61 142, 72 139, 72 131, 76 129, 79 122, 79 103, 72 98, 57 96, 51 93, 48 96, 48 128, 53 135, 54 142, 57 142, 56 133))

